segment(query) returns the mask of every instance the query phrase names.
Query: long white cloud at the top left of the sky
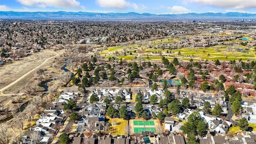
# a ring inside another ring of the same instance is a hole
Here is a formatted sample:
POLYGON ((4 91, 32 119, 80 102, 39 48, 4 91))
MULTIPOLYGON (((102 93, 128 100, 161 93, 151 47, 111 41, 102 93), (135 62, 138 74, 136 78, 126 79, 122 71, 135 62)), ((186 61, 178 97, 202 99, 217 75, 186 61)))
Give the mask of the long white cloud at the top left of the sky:
POLYGON ((80 6, 80 2, 76 0, 17 0, 25 6, 35 6, 39 8, 55 7, 65 9, 84 10, 84 6, 80 6))

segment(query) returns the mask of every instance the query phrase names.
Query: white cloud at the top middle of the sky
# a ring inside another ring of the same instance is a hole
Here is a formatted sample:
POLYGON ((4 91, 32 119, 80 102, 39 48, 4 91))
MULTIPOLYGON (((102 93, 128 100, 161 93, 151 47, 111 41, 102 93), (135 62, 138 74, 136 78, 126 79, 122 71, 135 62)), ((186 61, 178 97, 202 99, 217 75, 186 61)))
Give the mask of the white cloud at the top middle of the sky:
POLYGON ((125 0, 97 0, 97 3, 103 8, 114 8, 114 9, 126 9, 134 8, 138 10, 138 6, 135 3, 126 2, 125 0))

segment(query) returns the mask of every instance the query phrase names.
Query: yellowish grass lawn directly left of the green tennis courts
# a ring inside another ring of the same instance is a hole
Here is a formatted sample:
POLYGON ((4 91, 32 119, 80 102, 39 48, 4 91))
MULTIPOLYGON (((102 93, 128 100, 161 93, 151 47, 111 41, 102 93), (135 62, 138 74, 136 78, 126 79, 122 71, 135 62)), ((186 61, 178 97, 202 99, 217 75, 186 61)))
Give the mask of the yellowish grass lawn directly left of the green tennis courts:
MULTIPOLYGON (((108 116, 106 116, 106 118, 109 118, 108 116)), ((121 135, 121 134, 126 134, 126 132, 124 132, 124 127, 127 124, 127 120, 124 120, 122 118, 109 118, 109 122, 110 124, 112 124, 113 120, 116 121, 116 125, 112 125, 109 127, 108 132, 110 132, 112 135, 121 135)))

